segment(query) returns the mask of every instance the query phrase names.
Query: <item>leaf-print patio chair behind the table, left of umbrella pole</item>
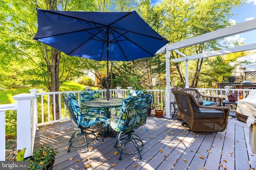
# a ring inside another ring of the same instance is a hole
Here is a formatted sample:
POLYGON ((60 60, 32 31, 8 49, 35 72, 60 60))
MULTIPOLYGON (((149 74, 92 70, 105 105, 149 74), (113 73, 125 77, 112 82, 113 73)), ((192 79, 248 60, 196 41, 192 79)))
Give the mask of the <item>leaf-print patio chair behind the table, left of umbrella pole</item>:
POLYGON ((83 105, 83 102, 85 101, 100 98, 100 92, 96 90, 86 89, 80 92, 79 97, 80 97, 80 108, 82 113, 90 112, 91 114, 100 114, 102 116, 107 117, 107 111, 105 108, 88 107, 83 105))

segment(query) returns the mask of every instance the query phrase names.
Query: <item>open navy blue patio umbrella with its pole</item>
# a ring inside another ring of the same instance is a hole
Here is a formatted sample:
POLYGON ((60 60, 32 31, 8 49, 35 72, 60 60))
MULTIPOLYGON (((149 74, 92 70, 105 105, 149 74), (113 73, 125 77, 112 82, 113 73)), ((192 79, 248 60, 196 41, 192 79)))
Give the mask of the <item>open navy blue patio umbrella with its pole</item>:
POLYGON ((152 57, 167 41, 136 11, 74 12, 36 9, 38 30, 34 37, 66 55, 107 61, 132 61, 152 57))

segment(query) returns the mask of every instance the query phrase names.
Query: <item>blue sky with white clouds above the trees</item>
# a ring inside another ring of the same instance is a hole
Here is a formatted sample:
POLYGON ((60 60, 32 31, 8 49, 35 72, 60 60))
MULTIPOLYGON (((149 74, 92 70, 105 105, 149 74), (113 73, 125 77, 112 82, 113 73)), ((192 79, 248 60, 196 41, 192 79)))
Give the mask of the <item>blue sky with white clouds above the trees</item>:
MULTIPOLYGON (((162 0, 151 0, 153 5, 161 2, 162 0)), ((248 0, 244 6, 238 9, 234 9, 233 12, 234 14, 237 14, 230 19, 230 21, 234 24, 255 19, 256 0, 248 0)), ((234 35, 232 37, 227 37, 226 39, 239 39, 240 41, 244 41, 245 44, 256 43, 256 30, 234 35)))

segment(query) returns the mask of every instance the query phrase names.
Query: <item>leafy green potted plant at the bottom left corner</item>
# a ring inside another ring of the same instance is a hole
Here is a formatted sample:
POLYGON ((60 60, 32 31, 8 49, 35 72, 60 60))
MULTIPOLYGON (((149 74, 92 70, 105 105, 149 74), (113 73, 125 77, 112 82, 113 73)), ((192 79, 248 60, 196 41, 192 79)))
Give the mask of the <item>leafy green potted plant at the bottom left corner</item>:
POLYGON ((52 170, 57 149, 41 147, 33 152, 32 156, 25 158, 28 161, 29 170, 52 170))

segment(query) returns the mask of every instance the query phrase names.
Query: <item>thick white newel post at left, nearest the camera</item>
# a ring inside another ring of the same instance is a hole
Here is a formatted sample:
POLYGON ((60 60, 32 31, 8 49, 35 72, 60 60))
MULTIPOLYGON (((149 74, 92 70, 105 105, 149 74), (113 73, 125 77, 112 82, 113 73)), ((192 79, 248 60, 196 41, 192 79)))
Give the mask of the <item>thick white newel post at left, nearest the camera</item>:
POLYGON ((34 94, 17 94, 17 149, 26 148, 24 157, 32 155, 31 100, 34 94))

